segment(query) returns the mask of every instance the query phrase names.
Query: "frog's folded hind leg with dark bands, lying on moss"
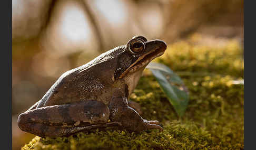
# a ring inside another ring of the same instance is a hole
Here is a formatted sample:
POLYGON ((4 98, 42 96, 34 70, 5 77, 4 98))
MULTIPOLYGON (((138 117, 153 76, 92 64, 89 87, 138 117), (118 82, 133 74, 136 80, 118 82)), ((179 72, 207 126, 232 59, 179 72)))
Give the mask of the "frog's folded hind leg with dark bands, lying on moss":
POLYGON ((92 128, 120 125, 107 123, 109 115, 109 108, 102 102, 79 101, 26 111, 18 116, 18 126, 42 137, 66 136, 92 128))

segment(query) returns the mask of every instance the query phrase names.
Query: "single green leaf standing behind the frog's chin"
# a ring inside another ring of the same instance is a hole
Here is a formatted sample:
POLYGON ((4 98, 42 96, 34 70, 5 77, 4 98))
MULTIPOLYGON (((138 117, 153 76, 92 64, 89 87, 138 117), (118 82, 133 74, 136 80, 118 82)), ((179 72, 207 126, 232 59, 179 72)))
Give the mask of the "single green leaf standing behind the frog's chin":
POLYGON ((151 62, 146 68, 150 69, 176 113, 181 117, 189 103, 189 91, 184 82, 169 67, 161 63, 151 62))

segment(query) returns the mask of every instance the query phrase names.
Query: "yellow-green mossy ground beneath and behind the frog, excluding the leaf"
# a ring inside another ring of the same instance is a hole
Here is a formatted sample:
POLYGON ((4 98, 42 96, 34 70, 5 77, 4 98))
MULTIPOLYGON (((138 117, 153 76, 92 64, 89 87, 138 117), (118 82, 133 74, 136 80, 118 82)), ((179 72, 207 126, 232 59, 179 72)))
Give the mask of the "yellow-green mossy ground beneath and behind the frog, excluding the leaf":
POLYGON ((159 120, 164 131, 96 131, 69 137, 36 136, 22 149, 243 149, 242 49, 230 41, 224 47, 177 42, 155 61, 184 80, 190 91, 188 108, 179 118, 147 70, 131 95, 142 106, 142 117, 159 120))

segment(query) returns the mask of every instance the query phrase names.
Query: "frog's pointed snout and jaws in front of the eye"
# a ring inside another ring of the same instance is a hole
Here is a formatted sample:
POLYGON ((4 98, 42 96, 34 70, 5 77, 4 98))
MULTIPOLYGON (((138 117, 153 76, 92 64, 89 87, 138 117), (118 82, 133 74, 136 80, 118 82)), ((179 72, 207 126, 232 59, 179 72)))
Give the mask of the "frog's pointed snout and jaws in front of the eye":
POLYGON ((163 40, 151 40, 146 42, 146 48, 142 55, 119 77, 120 79, 127 73, 133 73, 141 68, 145 68, 153 59, 163 55, 166 50, 166 43, 163 40))

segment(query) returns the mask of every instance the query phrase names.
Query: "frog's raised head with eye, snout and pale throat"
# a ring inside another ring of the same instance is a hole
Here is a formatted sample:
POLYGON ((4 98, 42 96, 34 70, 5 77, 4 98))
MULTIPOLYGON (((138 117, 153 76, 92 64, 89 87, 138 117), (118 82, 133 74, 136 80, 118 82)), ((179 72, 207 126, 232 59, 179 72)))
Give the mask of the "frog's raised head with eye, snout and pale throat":
POLYGON ((123 80, 130 95, 147 64, 163 55, 166 43, 163 40, 147 41, 143 36, 134 36, 123 48, 123 52, 116 59, 114 79, 123 80))

